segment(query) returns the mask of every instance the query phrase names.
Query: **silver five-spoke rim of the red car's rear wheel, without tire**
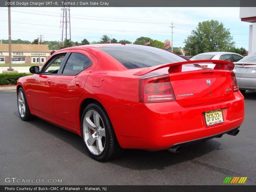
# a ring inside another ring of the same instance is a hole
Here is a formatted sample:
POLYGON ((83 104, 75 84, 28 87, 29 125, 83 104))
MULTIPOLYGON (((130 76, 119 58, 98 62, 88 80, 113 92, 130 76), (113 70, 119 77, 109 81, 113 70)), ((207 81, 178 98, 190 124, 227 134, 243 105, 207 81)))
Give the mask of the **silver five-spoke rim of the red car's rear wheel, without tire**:
POLYGON ((84 142, 90 152, 100 155, 106 144, 106 132, 102 118, 93 109, 86 112, 83 121, 84 142))

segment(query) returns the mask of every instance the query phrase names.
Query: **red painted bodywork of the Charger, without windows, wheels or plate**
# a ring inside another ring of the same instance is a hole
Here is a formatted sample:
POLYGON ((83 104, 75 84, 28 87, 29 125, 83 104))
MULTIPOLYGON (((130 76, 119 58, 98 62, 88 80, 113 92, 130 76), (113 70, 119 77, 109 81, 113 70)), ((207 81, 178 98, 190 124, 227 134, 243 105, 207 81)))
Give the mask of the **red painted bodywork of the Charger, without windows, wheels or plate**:
POLYGON ((221 136, 243 123, 244 97, 235 90, 233 73, 225 70, 225 66, 232 69, 233 63, 184 60, 177 64, 127 69, 98 49, 104 46, 117 44, 71 47, 55 52, 48 59, 66 52, 86 54, 92 65, 77 75, 21 77, 17 89, 24 89, 31 114, 82 136, 82 109, 98 101, 111 120, 119 145, 146 150, 168 149, 221 136), (190 65, 192 63, 214 63, 216 67, 207 69, 190 65), (148 79, 160 76, 170 79, 174 100, 145 102, 145 84, 148 79), (206 80, 212 84, 208 85, 206 80), (216 109, 222 110, 224 122, 206 126, 204 112, 216 109))

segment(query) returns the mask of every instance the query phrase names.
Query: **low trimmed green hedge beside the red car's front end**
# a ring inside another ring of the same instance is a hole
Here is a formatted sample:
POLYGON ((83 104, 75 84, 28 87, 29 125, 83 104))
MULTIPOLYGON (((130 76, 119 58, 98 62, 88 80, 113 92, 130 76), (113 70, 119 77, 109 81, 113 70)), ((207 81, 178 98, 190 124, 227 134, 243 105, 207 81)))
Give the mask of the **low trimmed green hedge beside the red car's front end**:
POLYGON ((0 73, 0 85, 16 85, 20 77, 32 75, 31 73, 0 73))

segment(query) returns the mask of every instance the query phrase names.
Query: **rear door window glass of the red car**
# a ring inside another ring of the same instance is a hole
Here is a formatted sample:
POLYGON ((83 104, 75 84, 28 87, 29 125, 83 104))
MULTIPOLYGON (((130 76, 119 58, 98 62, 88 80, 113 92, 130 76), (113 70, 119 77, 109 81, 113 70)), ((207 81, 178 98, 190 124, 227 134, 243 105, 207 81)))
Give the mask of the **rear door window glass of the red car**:
POLYGON ((81 53, 71 53, 62 74, 76 75, 91 65, 92 61, 86 55, 81 53))

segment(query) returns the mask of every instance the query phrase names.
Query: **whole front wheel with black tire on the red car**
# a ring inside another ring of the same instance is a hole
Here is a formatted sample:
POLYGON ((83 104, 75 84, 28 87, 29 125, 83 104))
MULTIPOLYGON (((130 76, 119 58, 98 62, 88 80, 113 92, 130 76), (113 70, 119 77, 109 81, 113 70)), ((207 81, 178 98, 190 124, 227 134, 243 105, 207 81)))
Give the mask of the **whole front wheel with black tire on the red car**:
POLYGON ((24 90, 20 87, 17 92, 18 111, 21 120, 28 121, 33 118, 28 108, 28 102, 24 90))

